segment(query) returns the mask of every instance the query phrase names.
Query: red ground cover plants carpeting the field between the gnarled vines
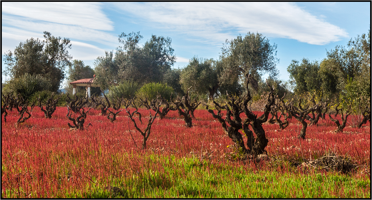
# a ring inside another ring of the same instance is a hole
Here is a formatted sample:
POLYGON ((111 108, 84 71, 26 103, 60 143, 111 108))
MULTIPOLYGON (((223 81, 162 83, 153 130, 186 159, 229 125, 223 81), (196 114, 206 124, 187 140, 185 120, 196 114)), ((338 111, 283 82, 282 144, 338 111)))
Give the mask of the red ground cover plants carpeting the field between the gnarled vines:
MULTIPOLYGON (((149 112, 141 108, 139 111, 149 112)), ((5 190, 12 190, 17 198, 55 198, 77 190, 89 190, 95 182, 107 177, 137 173, 146 166, 146 161, 141 159, 146 153, 181 158, 195 156, 214 163, 233 164, 229 155, 234 153, 234 148, 231 148, 234 142, 206 110, 195 110, 191 128, 185 128, 185 122, 177 111, 169 111, 162 120, 156 118, 146 150, 135 147, 129 128, 132 133, 136 130, 126 112, 118 113, 113 122, 100 112, 91 109, 85 123, 92 126, 76 130, 67 126, 66 107, 57 107, 50 119, 46 119, 40 108, 35 107, 31 118, 18 126, 15 124, 17 111, 9 111, 7 122, 1 120, 2 196, 5 190)), ((151 114, 155 112, 151 111, 151 114)), ((254 114, 261 115, 262 112, 254 114)), ((78 114, 72 115, 77 117, 78 114)), ((244 115, 241 117, 244 120, 244 115)), ((310 160, 331 149, 370 169, 369 122, 362 128, 346 126, 342 133, 335 133, 336 124, 327 117, 320 119, 318 126, 309 126, 307 138, 299 140, 297 136, 301 124, 294 118, 288 121, 289 126, 284 130, 280 130, 278 124, 263 124, 269 140, 266 150, 270 158, 285 156, 310 160)), ((137 125, 141 129, 147 126, 146 123, 137 125)), ((134 133, 133 137, 137 143, 143 139, 138 133, 134 133)), ((253 163, 246 165, 257 166, 253 163)), ((261 168, 265 166, 269 164, 260 164, 261 168)), ((162 170, 161 164, 158 168, 162 170)), ((286 168, 289 166, 278 170, 288 170, 286 168)))

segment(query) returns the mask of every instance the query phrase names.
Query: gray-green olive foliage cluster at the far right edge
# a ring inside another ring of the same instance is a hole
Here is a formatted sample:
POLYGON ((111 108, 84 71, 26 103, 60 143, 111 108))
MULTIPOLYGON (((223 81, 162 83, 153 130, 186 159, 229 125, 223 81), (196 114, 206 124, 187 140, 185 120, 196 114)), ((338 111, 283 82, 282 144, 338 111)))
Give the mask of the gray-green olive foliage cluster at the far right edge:
POLYGON ((319 90, 324 97, 338 97, 352 85, 359 95, 371 95, 371 30, 350 39, 347 46, 327 51, 327 58, 317 61, 292 61, 288 67, 298 92, 319 90), (350 79, 352 81, 350 82, 350 79))

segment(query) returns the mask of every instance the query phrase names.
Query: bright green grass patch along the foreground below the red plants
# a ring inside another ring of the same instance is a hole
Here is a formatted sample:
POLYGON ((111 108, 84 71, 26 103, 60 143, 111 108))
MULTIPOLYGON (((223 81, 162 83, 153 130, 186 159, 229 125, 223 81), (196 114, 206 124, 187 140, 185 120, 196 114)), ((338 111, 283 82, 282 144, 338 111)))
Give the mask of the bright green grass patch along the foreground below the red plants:
MULTIPOLYGON (((100 179, 84 198, 370 198, 368 176, 337 172, 277 172, 246 165, 211 164, 197 158, 148 155, 138 171, 100 179), (113 191, 105 185, 120 188, 113 191)), ((97 179, 98 180, 98 179, 97 179)))

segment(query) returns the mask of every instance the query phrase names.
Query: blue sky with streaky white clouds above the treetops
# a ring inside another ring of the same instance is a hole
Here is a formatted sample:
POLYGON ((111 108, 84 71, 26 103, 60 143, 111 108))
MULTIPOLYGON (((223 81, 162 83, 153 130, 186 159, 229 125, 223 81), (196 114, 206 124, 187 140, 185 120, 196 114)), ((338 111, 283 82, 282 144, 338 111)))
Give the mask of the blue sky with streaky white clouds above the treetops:
POLYGON ((4 54, 44 31, 69 38, 73 59, 94 69, 94 60, 115 51, 121 33, 140 31, 170 37, 177 62, 218 59, 226 39, 258 32, 277 45, 281 80, 289 80, 292 60, 321 61, 327 50, 346 46, 367 33, 371 1, 366 2, 1 2, 1 82, 4 54))

